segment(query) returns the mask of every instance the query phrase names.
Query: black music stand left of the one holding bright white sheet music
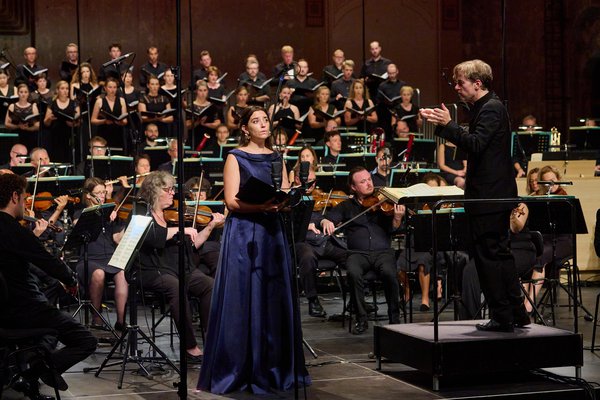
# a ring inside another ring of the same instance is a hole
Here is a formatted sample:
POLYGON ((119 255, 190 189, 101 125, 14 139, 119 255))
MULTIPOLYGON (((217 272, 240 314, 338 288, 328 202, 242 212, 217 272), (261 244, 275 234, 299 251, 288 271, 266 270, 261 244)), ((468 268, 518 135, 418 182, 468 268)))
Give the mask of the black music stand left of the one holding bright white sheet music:
MULTIPOLYGON (((106 318, 94 307, 90 300, 89 291, 89 261, 88 261, 88 244, 95 241, 100 232, 104 229, 104 226, 110 222, 110 213, 114 209, 115 204, 102 204, 98 206, 88 207, 83 210, 79 220, 73 227, 71 234, 67 237, 67 241, 62 248, 62 251, 75 250, 83 246, 83 287, 84 295, 79 300, 79 306, 73 313, 73 318, 79 314, 81 310, 84 311, 84 322, 85 326, 89 326, 89 311, 94 312, 102 323, 106 325, 115 337, 118 337, 117 333, 110 326, 106 318)), ((80 296, 81 297, 81 296, 80 296)))

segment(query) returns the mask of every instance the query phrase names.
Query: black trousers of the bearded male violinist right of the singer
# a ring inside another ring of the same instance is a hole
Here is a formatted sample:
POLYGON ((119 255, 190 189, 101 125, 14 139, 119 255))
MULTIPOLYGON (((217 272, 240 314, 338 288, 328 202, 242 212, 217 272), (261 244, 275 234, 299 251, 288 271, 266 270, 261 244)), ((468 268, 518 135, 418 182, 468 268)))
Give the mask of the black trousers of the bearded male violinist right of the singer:
POLYGON ((357 319, 366 319, 367 317, 364 275, 369 271, 374 271, 383 283, 390 323, 400 321, 400 285, 396 276, 394 250, 350 251, 346 260, 346 270, 350 286, 350 301, 356 310, 357 319))

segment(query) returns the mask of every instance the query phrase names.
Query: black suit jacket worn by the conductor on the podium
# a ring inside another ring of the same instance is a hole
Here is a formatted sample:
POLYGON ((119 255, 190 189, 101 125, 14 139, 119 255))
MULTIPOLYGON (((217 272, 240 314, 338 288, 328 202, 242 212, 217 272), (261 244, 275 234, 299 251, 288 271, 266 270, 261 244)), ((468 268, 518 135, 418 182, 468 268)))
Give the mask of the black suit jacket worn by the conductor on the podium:
MULTIPOLYGON (((489 92, 473 105, 469 129, 450 121, 435 134, 450 140, 468 154, 467 199, 517 196, 510 154, 510 119, 500 99, 489 92)), ((470 212, 487 213, 513 208, 514 204, 467 206, 470 212)))

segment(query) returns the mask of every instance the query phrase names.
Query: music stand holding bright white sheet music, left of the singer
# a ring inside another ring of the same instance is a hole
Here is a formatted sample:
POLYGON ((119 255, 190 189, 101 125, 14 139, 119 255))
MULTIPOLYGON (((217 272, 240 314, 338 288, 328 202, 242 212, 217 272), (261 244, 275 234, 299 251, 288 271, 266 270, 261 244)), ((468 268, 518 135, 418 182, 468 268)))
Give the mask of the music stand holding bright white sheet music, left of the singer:
MULTIPOLYGON (((125 231, 125 235, 121 239, 119 246, 115 250, 109 265, 115 266, 125 270, 126 273, 130 272, 132 264, 137 257, 140 247, 144 243, 144 237, 148 233, 150 226, 152 225, 152 217, 146 217, 142 215, 134 215, 129 222, 129 226, 125 231)), ((149 377, 151 376, 150 371, 144 366, 144 362, 156 362, 162 361, 167 363, 173 370, 179 374, 179 370, 173 364, 169 357, 146 335, 137 324, 137 277, 135 273, 129 274, 129 283, 132 285, 132 290, 129 291, 129 321, 130 323, 126 326, 122 332, 121 337, 114 344, 113 348, 107 354, 106 358, 100 365, 96 367, 97 371, 95 376, 98 377, 102 370, 106 367, 112 367, 115 365, 121 365, 121 373, 119 375, 119 383, 117 387, 121 389, 123 387, 123 377, 125 375, 125 366, 130 363, 136 363, 141 371, 149 377), (160 357, 143 357, 138 355, 138 335, 141 339, 152 347, 152 349, 160 355, 160 357), (127 340, 125 351, 122 352, 122 356, 113 357, 117 349, 121 348, 123 343, 127 340), (120 359, 120 361, 110 363, 110 360, 120 359)), ((84 368, 84 372, 90 372, 96 368, 84 368)))

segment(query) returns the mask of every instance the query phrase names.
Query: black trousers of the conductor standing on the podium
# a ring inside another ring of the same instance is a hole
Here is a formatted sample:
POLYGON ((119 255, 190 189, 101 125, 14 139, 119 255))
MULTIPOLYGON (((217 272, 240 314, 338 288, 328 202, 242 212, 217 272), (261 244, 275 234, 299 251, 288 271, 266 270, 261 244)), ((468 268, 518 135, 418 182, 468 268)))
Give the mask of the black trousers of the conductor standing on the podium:
POLYGON ((512 323, 515 309, 523 304, 515 259, 509 248, 510 212, 468 214, 481 290, 491 318, 503 324, 512 323))

